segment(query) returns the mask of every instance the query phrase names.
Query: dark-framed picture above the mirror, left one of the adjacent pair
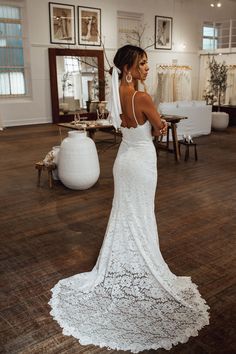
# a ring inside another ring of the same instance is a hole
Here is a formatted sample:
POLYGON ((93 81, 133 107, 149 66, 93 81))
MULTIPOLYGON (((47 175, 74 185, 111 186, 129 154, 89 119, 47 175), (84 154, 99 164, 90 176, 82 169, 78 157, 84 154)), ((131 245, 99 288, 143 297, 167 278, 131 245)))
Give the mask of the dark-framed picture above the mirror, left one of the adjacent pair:
POLYGON ((75 44, 75 6, 49 3, 50 42, 75 44))

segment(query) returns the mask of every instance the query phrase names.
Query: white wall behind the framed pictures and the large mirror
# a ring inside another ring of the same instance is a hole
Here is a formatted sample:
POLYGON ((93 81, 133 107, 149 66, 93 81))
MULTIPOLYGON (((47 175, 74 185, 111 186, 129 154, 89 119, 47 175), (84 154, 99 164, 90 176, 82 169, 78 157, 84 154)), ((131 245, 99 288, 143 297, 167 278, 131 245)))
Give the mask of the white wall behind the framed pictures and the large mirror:
MULTIPOLYGON (((15 0, 17 2, 17 0, 15 0)), ((48 66, 49 11, 48 0, 25 0, 29 34, 32 95, 27 99, 0 99, 0 115, 4 126, 47 123, 52 121, 48 66)), ((144 14, 146 45, 154 37, 154 16, 173 17, 173 48, 171 51, 148 49, 150 75, 149 92, 154 95, 156 65, 171 64, 192 67, 193 98, 197 98, 201 25, 204 20, 236 17, 236 3, 225 0, 221 9, 212 9, 207 0, 56 0, 57 3, 101 8, 102 35, 110 62, 117 49, 117 10, 144 14), (235 14, 232 16, 232 14, 235 14), (185 48, 182 45, 185 44, 185 48)), ((0 0, 8 3, 8 0, 0 0)), ((14 0, 11 0, 14 3, 14 0)), ((76 8, 77 13, 77 8, 76 8)), ((77 16, 76 16, 77 18, 77 16)), ((77 26, 76 26, 77 33, 77 26)), ((74 46, 74 48, 82 48, 74 46)), ((71 46, 73 48, 73 46, 71 46)), ((92 48, 92 47, 91 47, 92 48)), ((97 49, 97 47, 94 47, 97 49)))

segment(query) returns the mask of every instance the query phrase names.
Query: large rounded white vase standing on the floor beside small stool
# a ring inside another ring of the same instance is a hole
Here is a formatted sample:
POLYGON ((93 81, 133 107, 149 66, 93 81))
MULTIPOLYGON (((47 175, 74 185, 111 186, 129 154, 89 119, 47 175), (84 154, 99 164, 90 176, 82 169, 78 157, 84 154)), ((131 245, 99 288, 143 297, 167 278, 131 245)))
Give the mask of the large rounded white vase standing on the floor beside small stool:
POLYGON ((69 131, 62 141, 58 175, 71 189, 88 189, 97 182, 100 175, 97 149, 86 132, 69 131))

